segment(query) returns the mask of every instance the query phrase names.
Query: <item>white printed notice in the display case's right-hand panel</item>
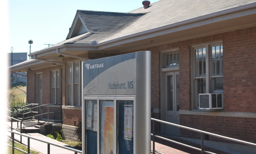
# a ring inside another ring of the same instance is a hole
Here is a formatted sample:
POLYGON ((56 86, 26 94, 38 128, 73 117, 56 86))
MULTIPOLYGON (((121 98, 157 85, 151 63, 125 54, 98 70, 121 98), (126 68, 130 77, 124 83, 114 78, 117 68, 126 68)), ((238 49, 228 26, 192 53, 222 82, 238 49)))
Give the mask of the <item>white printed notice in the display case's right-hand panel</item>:
POLYGON ((132 105, 124 105, 124 139, 132 141, 132 105))

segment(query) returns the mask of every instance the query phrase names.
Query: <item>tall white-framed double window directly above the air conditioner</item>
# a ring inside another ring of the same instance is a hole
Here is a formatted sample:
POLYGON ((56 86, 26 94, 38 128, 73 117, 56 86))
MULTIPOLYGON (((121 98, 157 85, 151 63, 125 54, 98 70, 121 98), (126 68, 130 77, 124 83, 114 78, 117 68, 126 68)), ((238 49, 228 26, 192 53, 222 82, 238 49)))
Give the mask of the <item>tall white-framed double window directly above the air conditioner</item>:
POLYGON ((192 108, 198 109, 198 94, 223 93, 223 45, 192 47, 192 108))

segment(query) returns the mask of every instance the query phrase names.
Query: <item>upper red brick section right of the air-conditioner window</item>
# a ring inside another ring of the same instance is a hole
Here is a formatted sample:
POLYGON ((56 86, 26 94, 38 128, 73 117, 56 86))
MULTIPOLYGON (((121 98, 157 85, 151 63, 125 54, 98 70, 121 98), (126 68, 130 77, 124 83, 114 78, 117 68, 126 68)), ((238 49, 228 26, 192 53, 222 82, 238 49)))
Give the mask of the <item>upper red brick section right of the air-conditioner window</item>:
POLYGON ((226 33, 224 110, 256 112, 256 27, 226 33))

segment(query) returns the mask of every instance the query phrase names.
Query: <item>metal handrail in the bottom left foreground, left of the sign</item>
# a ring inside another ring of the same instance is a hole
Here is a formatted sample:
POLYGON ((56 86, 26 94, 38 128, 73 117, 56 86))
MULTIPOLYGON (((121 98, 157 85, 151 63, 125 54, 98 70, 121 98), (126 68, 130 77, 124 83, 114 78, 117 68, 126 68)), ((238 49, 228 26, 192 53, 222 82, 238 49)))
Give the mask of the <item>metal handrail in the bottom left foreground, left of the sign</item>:
POLYGON ((64 149, 66 149, 66 150, 69 150, 69 151, 74 152, 75 154, 77 154, 77 153, 82 153, 82 151, 79 151, 79 150, 77 150, 77 149, 69 148, 69 147, 66 147, 66 146, 60 146, 60 145, 58 145, 58 144, 53 144, 53 143, 51 143, 51 142, 49 142, 49 141, 44 141, 44 140, 41 140, 41 139, 37 139, 37 138, 31 137, 30 135, 27 135, 27 134, 20 134, 20 133, 18 133, 18 132, 13 132, 13 131, 11 131, 11 130, 8 130, 8 132, 11 132, 11 138, 12 138, 12 141, 13 141, 13 146, 12 146, 12 147, 13 147, 13 151, 14 151, 14 149, 16 149, 16 147, 14 147, 14 134, 18 134, 18 135, 20 135, 20 137, 27 137, 27 153, 30 153, 30 139, 34 139, 34 140, 37 140, 37 141, 41 141, 41 142, 47 144, 47 151, 48 151, 48 154, 51 153, 51 151, 50 151, 50 145, 52 145, 52 146, 58 146, 59 148, 64 148, 64 149))

